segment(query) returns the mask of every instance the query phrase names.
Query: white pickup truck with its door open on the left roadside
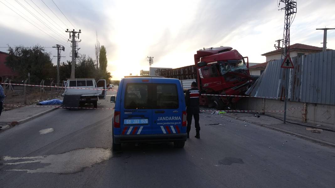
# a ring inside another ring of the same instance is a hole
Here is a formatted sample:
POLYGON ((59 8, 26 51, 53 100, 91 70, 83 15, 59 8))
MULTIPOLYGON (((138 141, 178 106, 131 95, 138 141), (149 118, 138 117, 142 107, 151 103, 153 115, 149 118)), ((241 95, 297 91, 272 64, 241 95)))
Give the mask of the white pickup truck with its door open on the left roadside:
POLYGON ((106 80, 94 78, 70 78, 65 83, 64 107, 79 107, 79 104, 93 104, 97 108, 99 99, 106 99, 106 80))

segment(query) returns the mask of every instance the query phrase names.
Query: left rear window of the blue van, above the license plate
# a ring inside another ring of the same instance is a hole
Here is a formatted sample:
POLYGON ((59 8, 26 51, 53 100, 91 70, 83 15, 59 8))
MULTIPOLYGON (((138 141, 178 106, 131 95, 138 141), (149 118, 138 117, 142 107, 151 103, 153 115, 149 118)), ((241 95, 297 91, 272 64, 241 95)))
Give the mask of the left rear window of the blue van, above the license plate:
POLYGON ((150 109, 148 84, 128 83, 124 106, 125 109, 150 109))

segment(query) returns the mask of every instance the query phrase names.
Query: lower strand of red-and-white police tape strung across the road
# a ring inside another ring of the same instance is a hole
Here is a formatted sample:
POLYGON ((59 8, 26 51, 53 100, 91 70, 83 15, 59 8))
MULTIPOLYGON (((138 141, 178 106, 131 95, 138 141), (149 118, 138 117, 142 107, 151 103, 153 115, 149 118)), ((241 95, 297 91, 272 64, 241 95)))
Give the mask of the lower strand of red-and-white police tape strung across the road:
MULTIPOLYGON (((84 107, 62 107, 62 106, 41 106, 41 105, 4 105, 4 106, 16 106, 16 107, 46 107, 46 108, 64 108, 64 109, 93 109, 93 110, 114 110, 114 108, 84 108, 84 107)), ((302 107, 287 109, 295 110, 302 107)), ((200 110, 200 112, 285 112, 284 110, 200 110)))

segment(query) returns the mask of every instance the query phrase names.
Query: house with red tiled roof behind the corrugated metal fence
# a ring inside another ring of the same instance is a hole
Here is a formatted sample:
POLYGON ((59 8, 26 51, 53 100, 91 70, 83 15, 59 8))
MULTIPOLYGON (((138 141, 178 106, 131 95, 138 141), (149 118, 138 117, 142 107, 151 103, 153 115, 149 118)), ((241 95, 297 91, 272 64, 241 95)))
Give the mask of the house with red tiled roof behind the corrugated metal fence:
MULTIPOLYGON (((327 49, 332 50, 332 49, 327 49)), ((306 44, 292 44, 289 46, 290 57, 307 55, 312 53, 322 52, 322 47, 311 46, 306 44)), ((263 53, 262 55, 266 57, 266 62, 258 63, 257 65, 249 66, 250 74, 253 76, 260 76, 264 72, 266 65, 270 60, 281 59, 282 49, 273 50, 270 52, 263 53)))

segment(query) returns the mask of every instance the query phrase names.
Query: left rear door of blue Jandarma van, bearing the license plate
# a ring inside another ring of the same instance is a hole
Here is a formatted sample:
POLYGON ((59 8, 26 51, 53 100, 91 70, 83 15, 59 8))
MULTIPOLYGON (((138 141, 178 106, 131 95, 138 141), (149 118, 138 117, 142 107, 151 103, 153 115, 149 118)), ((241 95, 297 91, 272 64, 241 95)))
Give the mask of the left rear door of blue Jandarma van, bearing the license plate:
POLYGON ((120 105, 121 135, 151 134, 151 78, 124 79, 123 85, 120 105))

